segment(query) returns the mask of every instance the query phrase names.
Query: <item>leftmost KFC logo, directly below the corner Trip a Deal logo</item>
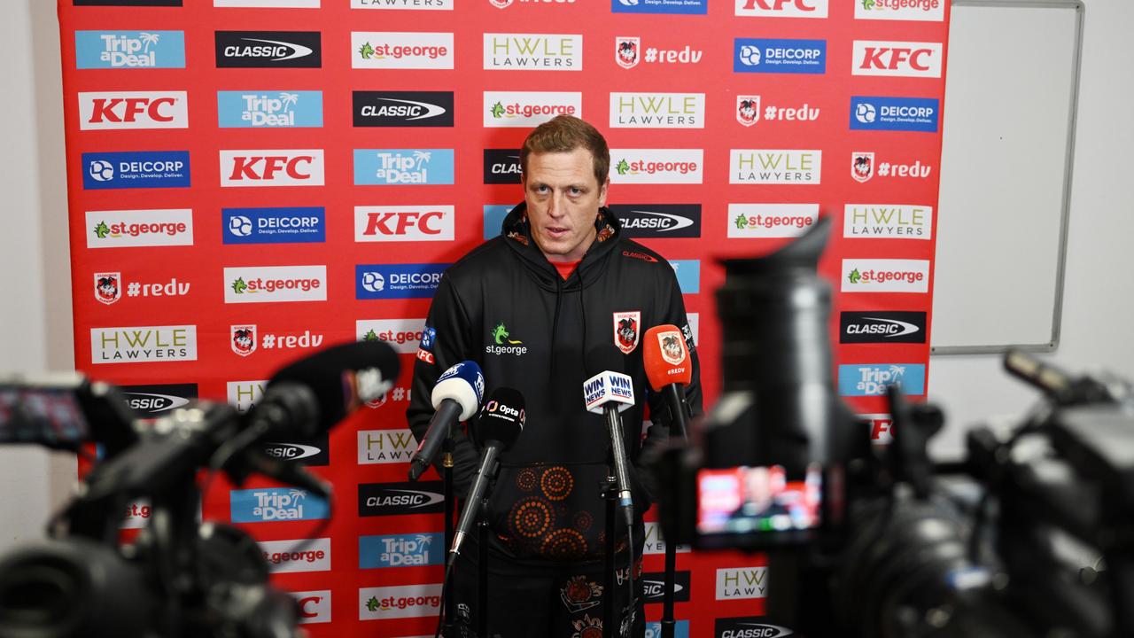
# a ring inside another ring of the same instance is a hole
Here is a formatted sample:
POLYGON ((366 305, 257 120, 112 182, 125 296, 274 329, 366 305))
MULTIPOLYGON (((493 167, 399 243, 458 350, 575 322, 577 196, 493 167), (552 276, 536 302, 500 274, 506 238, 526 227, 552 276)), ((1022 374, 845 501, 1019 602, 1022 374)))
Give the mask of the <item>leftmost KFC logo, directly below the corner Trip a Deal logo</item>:
POLYGON ((81 131, 187 128, 185 91, 116 91, 78 94, 81 131))

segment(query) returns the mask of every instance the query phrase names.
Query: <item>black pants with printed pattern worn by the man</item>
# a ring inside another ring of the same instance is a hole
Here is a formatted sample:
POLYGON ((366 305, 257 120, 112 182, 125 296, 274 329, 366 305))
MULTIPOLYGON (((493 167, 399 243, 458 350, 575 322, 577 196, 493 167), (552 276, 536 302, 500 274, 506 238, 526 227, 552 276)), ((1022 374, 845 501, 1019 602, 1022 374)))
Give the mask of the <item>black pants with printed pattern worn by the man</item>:
MULTIPOLYGON (((474 545, 475 547, 475 545, 474 545)), ((454 565, 455 631, 447 638, 474 638, 479 624, 475 548, 462 553, 454 565)), ((623 560, 625 563, 625 559, 623 560)), ((488 626, 490 638, 601 638, 607 591, 602 563, 524 569, 507 563, 507 571, 493 570, 489 559, 488 626)), ((645 612, 641 581, 641 557, 634 568, 634 608, 629 605, 628 568, 615 579, 615 636, 643 638, 645 612)))

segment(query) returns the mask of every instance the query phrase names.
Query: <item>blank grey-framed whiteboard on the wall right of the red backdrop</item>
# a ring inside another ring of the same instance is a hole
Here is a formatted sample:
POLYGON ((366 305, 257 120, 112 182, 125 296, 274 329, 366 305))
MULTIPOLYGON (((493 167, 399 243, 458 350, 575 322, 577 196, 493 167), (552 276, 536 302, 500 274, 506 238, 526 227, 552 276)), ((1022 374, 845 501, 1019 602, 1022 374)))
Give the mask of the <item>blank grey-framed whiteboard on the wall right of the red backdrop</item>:
POLYGON ((1078 0, 953 2, 933 354, 1058 345, 1082 16, 1078 0))

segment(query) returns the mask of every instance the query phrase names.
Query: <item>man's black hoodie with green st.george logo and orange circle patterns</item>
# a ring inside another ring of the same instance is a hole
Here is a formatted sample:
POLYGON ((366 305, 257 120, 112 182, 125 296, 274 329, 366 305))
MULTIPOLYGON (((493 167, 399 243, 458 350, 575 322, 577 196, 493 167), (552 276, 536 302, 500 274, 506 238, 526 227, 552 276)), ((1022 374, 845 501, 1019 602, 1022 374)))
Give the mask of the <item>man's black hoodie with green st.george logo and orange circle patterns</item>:
MULTIPOLYGON (((603 370, 634 379, 636 404, 621 417, 627 455, 636 462, 645 404, 654 421, 649 440, 668 433, 665 402, 649 391, 641 338, 662 324, 691 335, 685 304, 670 265, 623 237, 608 209, 600 210, 596 240, 566 280, 532 241, 524 211, 523 203, 514 208, 501 236, 471 251, 441 278, 425 324, 435 336, 430 352, 418 353, 415 362, 406 418, 421 439, 433 414, 430 394, 437 378, 460 361, 475 361, 484 371, 485 396, 496 387, 518 389, 527 419, 516 444, 500 456, 489 500, 493 545, 524 561, 598 559, 609 443, 602 415, 584 409, 583 383, 603 370)), ((687 341, 693 383, 686 395, 697 413, 700 370, 687 341)), ((479 454, 468 438, 458 442, 454 482, 464 496, 479 454)), ((631 478, 641 520, 651 498, 633 469, 631 478)))

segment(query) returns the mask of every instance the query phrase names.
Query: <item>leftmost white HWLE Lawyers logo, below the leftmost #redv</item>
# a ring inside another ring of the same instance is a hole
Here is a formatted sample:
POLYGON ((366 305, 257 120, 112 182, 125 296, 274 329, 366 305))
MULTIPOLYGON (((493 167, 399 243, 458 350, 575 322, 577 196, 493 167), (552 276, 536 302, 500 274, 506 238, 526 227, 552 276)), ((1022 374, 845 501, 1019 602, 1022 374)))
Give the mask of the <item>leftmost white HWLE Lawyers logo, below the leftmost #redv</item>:
POLYGON ((91 328, 91 363, 196 360, 196 326, 91 328))

